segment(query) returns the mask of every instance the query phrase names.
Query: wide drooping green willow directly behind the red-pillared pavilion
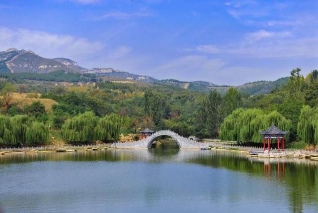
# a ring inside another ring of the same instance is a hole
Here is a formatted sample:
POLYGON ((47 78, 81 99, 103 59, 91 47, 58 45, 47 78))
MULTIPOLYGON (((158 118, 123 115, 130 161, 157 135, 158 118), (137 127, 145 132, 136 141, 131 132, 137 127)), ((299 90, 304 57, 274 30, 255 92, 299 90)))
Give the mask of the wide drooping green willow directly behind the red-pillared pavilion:
POLYGON ((276 110, 266 114, 261 109, 239 108, 225 118, 220 127, 220 138, 222 140, 261 142, 262 137, 259 131, 266 130, 273 124, 284 130, 291 128, 291 121, 276 110))

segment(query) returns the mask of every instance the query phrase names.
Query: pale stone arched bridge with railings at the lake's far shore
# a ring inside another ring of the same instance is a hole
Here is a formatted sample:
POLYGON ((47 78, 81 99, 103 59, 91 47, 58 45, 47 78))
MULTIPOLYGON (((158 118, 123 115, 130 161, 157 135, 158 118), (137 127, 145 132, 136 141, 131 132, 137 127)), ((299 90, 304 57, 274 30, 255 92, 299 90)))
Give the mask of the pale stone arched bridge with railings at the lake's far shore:
POLYGON ((201 143, 195 140, 190 140, 170 130, 161 130, 161 131, 155 132, 151 136, 148 136, 142 140, 138 140, 134 142, 113 143, 112 147, 114 148, 151 148, 156 138, 162 135, 167 135, 172 137, 178 143, 179 148, 201 148, 201 147, 207 147, 209 145, 212 145, 212 143, 201 143))

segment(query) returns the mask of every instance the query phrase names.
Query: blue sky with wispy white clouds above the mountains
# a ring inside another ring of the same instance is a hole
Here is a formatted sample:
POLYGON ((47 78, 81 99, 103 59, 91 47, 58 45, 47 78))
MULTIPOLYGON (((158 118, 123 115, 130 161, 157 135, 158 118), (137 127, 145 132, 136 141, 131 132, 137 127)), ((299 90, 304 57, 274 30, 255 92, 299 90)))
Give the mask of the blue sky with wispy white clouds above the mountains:
POLYGON ((0 51, 240 85, 318 69, 318 0, 0 0, 0 51))

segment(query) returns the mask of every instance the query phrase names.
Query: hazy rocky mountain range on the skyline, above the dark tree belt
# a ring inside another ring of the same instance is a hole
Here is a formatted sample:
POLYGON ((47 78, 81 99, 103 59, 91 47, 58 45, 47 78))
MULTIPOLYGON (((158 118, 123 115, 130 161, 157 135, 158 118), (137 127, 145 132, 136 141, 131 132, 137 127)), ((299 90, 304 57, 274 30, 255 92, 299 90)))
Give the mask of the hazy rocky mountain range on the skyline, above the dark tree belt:
MULTIPOLYGON (((183 82, 174 79, 158 80, 150 76, 136 75, 113 68, 86 69, 80 67, 77 62, 67 58, 44 58, 31 50, 17 50, 10 48, 0 52, 0 72, 5 73, 49 73, 63 70, 65 72, 91 73, 103 79, 146 82, 163 86, 172 86, 198 92, 217 90, 225 93, 231 86, 220 86, 211 82, 192 81, 183 82)), ((288 81, 288 77, 276 81, 257 81, 236 86, 239 92, 249 95, 266 94, 275 87, 280 87, 288 81)))

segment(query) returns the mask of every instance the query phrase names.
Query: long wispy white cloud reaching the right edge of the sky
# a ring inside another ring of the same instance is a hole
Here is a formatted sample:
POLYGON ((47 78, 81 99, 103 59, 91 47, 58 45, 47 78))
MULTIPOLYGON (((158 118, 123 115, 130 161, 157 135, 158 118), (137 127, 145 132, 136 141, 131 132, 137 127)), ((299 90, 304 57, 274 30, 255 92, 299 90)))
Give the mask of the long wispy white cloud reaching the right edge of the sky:
POLYGON ((224 46, 199 45, 196 48, 182 50, 250 58, 318 58, 318 37, 295 38, 289 31, 259 30, 247 33, 240 42, 224 46))

